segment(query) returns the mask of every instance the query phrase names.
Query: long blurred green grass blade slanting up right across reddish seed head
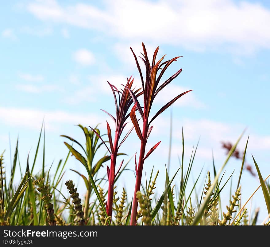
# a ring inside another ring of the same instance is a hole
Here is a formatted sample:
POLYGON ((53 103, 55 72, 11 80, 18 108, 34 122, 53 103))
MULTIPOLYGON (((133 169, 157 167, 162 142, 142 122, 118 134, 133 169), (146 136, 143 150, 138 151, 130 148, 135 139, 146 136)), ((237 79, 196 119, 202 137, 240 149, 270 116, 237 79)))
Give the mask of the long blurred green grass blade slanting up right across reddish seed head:
MULTIPOLYGON (((245 132, 245 130, 244 130, 245 132)), ((218 177, 220 176, 220 174, 222 173, 222 170, 224 169, 224 167, 226 166, 226 164, 228 163, 230 157, 232 156, 233 152, 236 149, 236 146, 238 144, 238 142, 240 141, 241 137, 243 136, 244 132, 240 135, 240 137, 237 139, 236 143, 233 145, 233 147, 231 148, 230 152, 227 155, 227 158, 225 160, 225 162, 223 163, 222 167, 219 169, 219 172, 217 173, 217 175, 215 176, 214 182, 212 183, 211 187, 209 188, 208 192, 205 195, 205 199, 202 203, 202 205, 199 207, 198 212, 196 213, 196 216, 192 222, 192 225, 197 225, 199 223, 199 221, 201 220, 201 217, 203 215, 203 211, 207 205, 207 203, 210 200, 211 197, 211 193, 214 190, 217 182, 218 182, 218 177)))

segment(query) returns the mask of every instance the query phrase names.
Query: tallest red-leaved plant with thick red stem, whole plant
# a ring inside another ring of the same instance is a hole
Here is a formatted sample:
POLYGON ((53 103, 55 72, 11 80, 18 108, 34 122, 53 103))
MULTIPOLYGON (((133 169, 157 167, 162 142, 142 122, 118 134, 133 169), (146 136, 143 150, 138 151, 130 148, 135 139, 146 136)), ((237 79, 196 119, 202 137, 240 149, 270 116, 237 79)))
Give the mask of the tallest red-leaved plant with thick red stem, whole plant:
MULTIPOLYGON (((137 99, 137 96, 128 88, 129 93, 132 95, 132 99, 134 101, 134 106, 130 112, 130 118, 131 121, 134 125, 134 128, 136 130, 136 133, 138 135, 138 137, 141 140, 141 149, 140 149, 140 156, 139 156, 139 160, 138 160, 138 164, 136 161, 136 156, 135 156, 135 170, 136 170, 136 184, 135 184, 135 190, 134 190, 134 197, 133 198, 137 198, 137 192, 140 190, 141 188, 141 178, 142 178, 142 171, 143 171, 143 165, 144 165, 144 161, 147 159, 147 157, 149 157, 149 155, 157 148, 157 146, 160 144, 160 142, 158 142, 156 145, 154 145, 148 153, 146 153, 145 155, 145 148, 146 148, 146 144, 147 144, 147 139, 151 133, 151 130, 153 128, 153 126, 150 126, 152 121, 158 117, 164 110, 166 110, 169 106, 171 106, 176 100, 178 100, 180 97, 182 97, 184 94, 187 94, 188 92, 192 91, 192 90, 188 90, 182 94, 179 94, 178 96, 176 96, 175 98, 173 98, 170 102, 168 102, 166 105, 164 105, 153 117, 152 119, 149 121, 149 114, 150 114, 150 110, 153 104, 153 101, 156 97, 156 95, 165 87, 167 86, 170 82, 172 82, 173 79, 175 79, 181 72, 182 69, 178 70, 175 74, 173 74, 170 78, 168 78, 165 82, 163 82, 160 86, 160 81, 161 78, 163 76, 163 74, 165 73, 165 71, 168 69, 168 67, 172 64, 172 62, 177 61, 177 58, 180 57, 175 57, 172 58, 171 60, 167 60, 165 62, 162 62, 162 60, 164 59, 165 55, 158 61, 156 62, 156 56, 159 50, 159 47, 156 48, 154 54, 153 54, 153 58, 152 58, 152 63, 150 63, 148 55, 147 55, 147 51, 145 48, 144 43, 142 43, 142 47, 143 47, 143 53, 142 57, 140 57, 146 67, 146 75, 145 75, 145 80, 143 78, 142 75, 142 71, 141 71, 141 67, 138 63, 138 59, 137 56, 135 55, 135 53, 133 52, 132 48, 130 47, 133 56, 135 58, 135 62, 137 64, 137 68, 141 77, 141 84, 142 84, 142 89, 143 89, 143 109, 137 99), (159 73, 159 74, 158 74, 159 73), (141 130, 136 114, 135 114, 135 110, 138 110, 140 117, 143 121, 143 128, 141 130)), ((133 205, 132 205, 132 211, 131 211, 131 219, 130 219, 130 225, 135 225, 136 224, 136 218, 137 218, 137 207, 138 207, 138 200, 133 200, 133 205)))

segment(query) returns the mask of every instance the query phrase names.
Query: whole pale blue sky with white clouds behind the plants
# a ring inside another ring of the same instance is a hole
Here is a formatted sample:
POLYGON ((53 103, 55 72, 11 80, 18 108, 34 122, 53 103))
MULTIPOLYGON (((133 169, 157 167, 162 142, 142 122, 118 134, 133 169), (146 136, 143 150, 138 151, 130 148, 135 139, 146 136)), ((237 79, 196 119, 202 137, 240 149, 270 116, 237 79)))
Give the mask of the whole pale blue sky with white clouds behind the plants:
MULTIPOLYGON (((212 149, 217 166, 222 165, 226 156, 220 142, 236 141, 245 127, 239 149, 250 134, 246 160, 252 164, 252 153, 263 176, 269 174, 268 1, 5 1, 0 11, 0 151, 7 149, 6 163, 9 134, 12 152, 19 135, 22 164, 31 148, 33 156, 43 117, 47 167, 67 155, 60 134, 84 141, 74 125, 101 123, 104 131, 108 118, 99 109, 114 113, 106 80, 120 86, 133 75, 139 85, 129 46, 139 54, 144 42, 148 53, 160 46, 160 57, 183 56, 166 76, 179 68, 182 73, 156 99, 153 111, 194 90, 172 109, 171 174, 179 166, 182 126, 186 161, 200 137, 194 179, 203 165, 212 169, 212 149)), ((164 171, 168 162, 169 116, 167 110, 154 122, 149 148, 162 142, 145 164, 148 174, 153 164, 164 171)), ((132 155, 139 144, 134 132, 121 151, 132 155)), ((231 160, 226 167, 227 176, 235 169, 233 183, 240 165, 231 160)), ((72 157, 67 168, 74 167, 83 172, 72 157)), ((75 174, 66 174, 75 180, 75 174)), ((123 183, 132 188, 133 174, 125 176, 123 183)), ((245 171, 242 184, 244 200, 259 181, 245 171)), ((253 207, 266 212, 261 196, 259 191, 253 207)))

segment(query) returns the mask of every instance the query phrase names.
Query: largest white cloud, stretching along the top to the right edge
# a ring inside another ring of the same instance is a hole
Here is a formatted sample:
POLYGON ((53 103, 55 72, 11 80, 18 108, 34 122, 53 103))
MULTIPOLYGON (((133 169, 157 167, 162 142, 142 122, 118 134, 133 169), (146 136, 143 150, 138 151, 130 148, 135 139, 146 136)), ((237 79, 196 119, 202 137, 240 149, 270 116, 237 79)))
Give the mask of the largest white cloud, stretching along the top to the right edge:
POLYGON ((270 48, 270 10, 259 3, 233 0, 104 0, 104 3, 105 9, 100 9, 90 4, 64 6, 53 0, 37 1, 30 3, 28 10, 44 21, 95 29, 133 42, 181 45, 195 51, 222 46, 233 54, 270 48))

